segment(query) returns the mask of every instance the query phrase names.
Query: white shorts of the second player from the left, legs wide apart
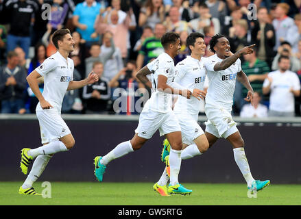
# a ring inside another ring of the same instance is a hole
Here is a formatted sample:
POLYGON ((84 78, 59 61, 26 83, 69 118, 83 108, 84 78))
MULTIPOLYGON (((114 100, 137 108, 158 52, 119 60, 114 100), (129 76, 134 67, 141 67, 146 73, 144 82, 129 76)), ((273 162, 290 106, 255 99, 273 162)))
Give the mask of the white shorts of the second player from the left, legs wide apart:
POLYGON ((141 138, 152 138, 159 129, 160 136, 174 131, 181 131, 176 115, 171 110, 167 113, 143 109, 139 116, 139 124, 135 130, 141 138))

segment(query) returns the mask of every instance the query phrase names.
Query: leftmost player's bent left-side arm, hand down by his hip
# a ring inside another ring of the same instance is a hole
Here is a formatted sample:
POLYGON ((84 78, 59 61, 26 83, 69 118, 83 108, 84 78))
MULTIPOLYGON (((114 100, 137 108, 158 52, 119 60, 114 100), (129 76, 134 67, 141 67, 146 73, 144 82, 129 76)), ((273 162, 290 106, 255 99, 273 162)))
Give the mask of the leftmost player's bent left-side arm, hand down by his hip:
POLYGON ((32 89, 32 92, 34 92, 34 95, 36 95, 36 98, 40 101, 40 107, 42 107, 43 110, 49 110, 53 106, 44 99, 44 96, 38 88, 38 79, 40 77, 42 77, 42 75, 40 75, 36 70, 33 70, 32 73, 26 77, 26 80, 29 87, 32 89))

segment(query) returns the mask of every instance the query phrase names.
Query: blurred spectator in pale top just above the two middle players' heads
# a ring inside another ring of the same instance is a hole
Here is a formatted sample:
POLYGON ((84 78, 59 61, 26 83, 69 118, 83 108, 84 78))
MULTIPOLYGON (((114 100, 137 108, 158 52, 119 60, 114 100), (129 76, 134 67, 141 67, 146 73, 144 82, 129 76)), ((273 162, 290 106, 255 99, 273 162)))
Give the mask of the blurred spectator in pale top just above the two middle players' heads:
POLYGON ((180 20, 180 11, 176 6, 171 6, 169 15, 166 17, 163 25, 167 27, 167 31, 176 31, 178 33, 180 31, 188 31, 189 34, 192 32, 189 23, 180 20))

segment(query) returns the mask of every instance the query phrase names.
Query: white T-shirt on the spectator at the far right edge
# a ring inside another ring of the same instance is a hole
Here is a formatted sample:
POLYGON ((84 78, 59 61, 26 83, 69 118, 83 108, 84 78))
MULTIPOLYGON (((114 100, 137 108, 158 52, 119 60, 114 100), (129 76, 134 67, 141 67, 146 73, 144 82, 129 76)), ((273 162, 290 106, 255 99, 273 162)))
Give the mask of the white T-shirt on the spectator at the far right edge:
MULTIPOLYGON (((272 77, 271 94, 269 95, 269 110, 279 112, 295 112, 295 98, 289 90, 300 90, 300 80, 296 73, 287 70, 280 73, 279 70, 269 73, 272 77)), ((269 80, 265 79, 263 87, 269 85, 269 80)))

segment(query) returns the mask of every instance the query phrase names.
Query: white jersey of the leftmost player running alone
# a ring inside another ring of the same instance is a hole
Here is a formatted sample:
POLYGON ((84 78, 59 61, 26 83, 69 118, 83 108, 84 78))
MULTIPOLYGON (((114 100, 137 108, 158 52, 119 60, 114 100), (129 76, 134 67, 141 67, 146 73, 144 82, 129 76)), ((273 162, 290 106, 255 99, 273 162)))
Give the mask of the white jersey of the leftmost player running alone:
MULTIPOLYGON (((36 71, 44 76, 43 96, 59 114, 62 108, 62 100, 67 91, 69 82, 73 80, 74 64, 69 57, 67 60, 59 52, 48 57, 36 71)), ((36 105, 36 111, 43 110, 40 103, 36 105)))

